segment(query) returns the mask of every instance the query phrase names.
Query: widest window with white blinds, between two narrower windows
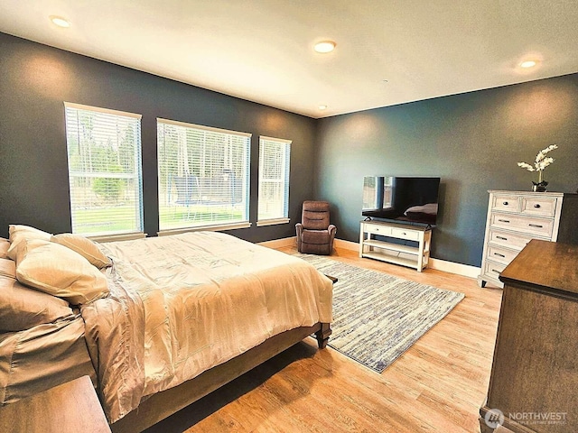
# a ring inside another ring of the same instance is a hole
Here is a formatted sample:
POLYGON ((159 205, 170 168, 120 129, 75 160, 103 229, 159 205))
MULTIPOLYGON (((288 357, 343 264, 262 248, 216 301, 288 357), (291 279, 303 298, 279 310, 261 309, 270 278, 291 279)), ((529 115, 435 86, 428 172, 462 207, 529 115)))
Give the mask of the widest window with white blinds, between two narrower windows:
POLYGON ((159 228, 248 227, 251 134, 157 119, 159 228))

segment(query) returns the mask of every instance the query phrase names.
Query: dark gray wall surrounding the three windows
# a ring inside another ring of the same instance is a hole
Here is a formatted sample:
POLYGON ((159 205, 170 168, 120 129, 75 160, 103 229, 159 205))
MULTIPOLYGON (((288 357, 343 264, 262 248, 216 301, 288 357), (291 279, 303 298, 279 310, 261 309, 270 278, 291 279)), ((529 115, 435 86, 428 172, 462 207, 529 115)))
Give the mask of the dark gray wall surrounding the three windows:
POLYGON ((295 234, 313 195, 315 121, 0 33, 0 236, 9 224, 70 231, 63 101, 143 115, 144 231, 158 231, 156 117, 252 133, 250 220, 256 221, 259 134, 293 140, 292 224, 234 234, 260 242, 295 234))

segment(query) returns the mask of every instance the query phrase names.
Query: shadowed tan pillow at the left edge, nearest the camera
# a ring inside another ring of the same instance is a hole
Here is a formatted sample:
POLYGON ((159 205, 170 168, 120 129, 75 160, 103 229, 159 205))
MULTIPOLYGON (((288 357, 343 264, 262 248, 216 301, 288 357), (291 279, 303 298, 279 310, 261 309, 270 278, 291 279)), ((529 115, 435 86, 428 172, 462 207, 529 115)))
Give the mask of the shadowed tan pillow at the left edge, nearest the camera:
MULTIPOLYGON (((0 259, 0 262, 12 260, 0 259)), ((0 264, 4 269, 5 263, 0 264)), ((0 272, 2 272, 0 270, 0 272)), ((0 273, 0 332, 17 332, 73 314, 67 301, 29 289, 15 277, 0 273)))

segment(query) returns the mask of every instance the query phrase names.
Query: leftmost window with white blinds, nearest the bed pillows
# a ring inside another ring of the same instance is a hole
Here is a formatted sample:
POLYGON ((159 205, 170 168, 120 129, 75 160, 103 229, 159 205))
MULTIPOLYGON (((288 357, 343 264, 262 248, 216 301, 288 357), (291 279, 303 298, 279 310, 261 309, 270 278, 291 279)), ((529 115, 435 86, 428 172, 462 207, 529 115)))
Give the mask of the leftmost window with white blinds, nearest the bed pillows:
POLYGON ((64 103, 72 232, 143 232, 141 115, 64 103))

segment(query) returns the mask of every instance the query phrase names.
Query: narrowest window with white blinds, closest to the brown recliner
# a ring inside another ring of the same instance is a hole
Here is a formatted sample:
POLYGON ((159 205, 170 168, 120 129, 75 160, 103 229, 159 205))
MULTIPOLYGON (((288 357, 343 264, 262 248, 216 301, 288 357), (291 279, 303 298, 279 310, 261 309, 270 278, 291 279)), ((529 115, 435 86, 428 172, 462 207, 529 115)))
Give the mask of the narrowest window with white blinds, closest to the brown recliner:
POLYGON ((257 225, 289 222, 291 141, 259 137, 259 203, 257 225))

